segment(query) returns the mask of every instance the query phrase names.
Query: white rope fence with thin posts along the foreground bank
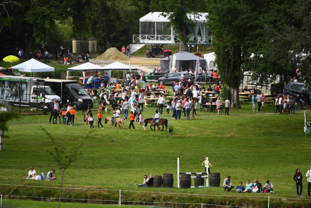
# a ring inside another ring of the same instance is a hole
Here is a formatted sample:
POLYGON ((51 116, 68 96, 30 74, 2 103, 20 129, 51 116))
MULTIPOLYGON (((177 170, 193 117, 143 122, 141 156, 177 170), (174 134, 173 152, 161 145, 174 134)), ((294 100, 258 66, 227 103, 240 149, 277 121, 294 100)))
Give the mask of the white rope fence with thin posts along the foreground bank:
MULTIPOLYGON (((40 198, 40 199, 59 199, 53 197, 38 197, 38 196, 16 196, 10 195, 17 187, 36 187, 36 188, 54 188, 60 189, 60 187, 51 187, 51 186, 28 186, 28 185, 20 185, 21 182, 17 185, 14 184, 0 184, 1 186, 15 186, 14 189, 7 195, 1 194, 1 207, 2 207, 2 199, 9 197, 25 197, 25 198, 40 198)), ((72 199, 72 198, 61 198, 62 200, 77 200, 77 201, 103 201, 103 202, 117 202, 119 206, 122 203, 148 203, 148 204, 185 204, 185 205, 201 205, 204 206, 221 206, 221 207, 239 207, 239 206, 225 206, 225 205, 216 205, 216 204, 199 204, 199 203, 178 203, 178 202, 150 202, 150 201, 122 201, 121 200, 121 191, 123 192, 140 192, 140 193, 148 193, 148 194, 174 194, 174 195, 193 195, 193 196, 213 196, 213 197, 244 197, 244 198, 265 198, 268 201, 268 207, 271 199, 281 199, 281 200, 301 200, 301 201, 311 201, 311 199, 297 199, 297 198, 286 198, 286 197, 274 197, 274 196, 245 196, 245 195, 215 195, 215 194, 191 194, 191 193, 176 193, 176 192, 155 192, 155 191, 133 191, 133 190, 121 190, 121 189, 95 189, 95 188, 67 188, 63 187, 63 189, 72 189, 72 190, 91 190, 91 191, 118 191, 119 192, 119 200, 98 200, 98 199, 72 199)), ((1 208, 0 207, 0 208, 1 208)))

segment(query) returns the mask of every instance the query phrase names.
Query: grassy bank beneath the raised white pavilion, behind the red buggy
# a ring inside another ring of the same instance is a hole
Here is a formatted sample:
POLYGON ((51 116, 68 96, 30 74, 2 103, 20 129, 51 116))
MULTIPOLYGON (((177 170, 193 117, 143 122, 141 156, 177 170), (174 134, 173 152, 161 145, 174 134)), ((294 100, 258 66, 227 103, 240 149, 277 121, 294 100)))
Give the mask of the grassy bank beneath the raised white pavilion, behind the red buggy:
MULTIPOLYGON (((213 52, 212 46, 199 46, 199 49, 197 51, 197 45, 194 45, 195 47, 192 47, 190 45, 190 53, 200 53, 200 54, 206 54, 213 52)), ((150 49, 150 44, 145 45, 142 48, 135 51, 131 56, 146 56, 146 49, 150 49)), ((179 51, 179 45, 168 45, 168 49, 172 51, 172 54, 175 54, 179 51)), ((189 48, 188 48, 189 49, 189 48)), ((189 50, 187 51, 189 52, 189 50)))

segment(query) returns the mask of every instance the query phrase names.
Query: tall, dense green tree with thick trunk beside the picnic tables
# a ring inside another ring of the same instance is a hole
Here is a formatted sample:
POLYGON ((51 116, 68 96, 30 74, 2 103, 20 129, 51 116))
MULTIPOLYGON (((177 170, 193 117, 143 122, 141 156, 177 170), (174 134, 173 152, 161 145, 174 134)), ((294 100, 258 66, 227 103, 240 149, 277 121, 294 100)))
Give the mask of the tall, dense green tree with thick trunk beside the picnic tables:
POLYGON ((212 45, 221 80, 228 84, 231 106, 240 108, 239 85, 243 64, 249 57, 249 45, 256 36, 261 1, 207 0, 207 25, 213 35, 212 45))

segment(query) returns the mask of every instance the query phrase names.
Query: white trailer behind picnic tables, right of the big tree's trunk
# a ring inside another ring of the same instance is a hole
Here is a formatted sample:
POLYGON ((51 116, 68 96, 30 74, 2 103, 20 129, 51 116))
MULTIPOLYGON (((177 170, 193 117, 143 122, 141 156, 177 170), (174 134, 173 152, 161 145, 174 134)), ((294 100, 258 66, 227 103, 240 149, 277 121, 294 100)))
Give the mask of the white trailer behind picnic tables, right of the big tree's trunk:
MULTIPOLYGON (((247 87, 247 89, 260 89, 262 93, 267 93, 267 94, 273 94, 273 92, 279 93, 280 91, 280 78, 278 77, 274 82, 269 83, 267 85, 256 85, 257 81, 252 81, 251 77, 252 77, 253 72, 252 71, 246 71, 244 72, 244 78, 243 78, 243 87, 242 89, 244 89, 244 86, 247 87)), ((270 78, 268 78, 268 80, 270 80, 270 78)))

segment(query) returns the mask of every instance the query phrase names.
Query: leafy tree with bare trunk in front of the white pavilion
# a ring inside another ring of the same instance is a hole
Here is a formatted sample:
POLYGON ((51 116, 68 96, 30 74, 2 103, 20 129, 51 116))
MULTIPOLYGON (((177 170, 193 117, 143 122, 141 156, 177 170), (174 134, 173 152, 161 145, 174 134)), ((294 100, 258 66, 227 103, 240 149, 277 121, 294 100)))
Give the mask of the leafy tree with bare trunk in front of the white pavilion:
POLYGON ((198 12, 205 12, 205 2, 202 0, 151 0, 151 11, 159 12, 167 17, 179 33, 180 45, 179 51, 187 51, 188 34, 193 27, 192 18, 199 17, 198 12))

